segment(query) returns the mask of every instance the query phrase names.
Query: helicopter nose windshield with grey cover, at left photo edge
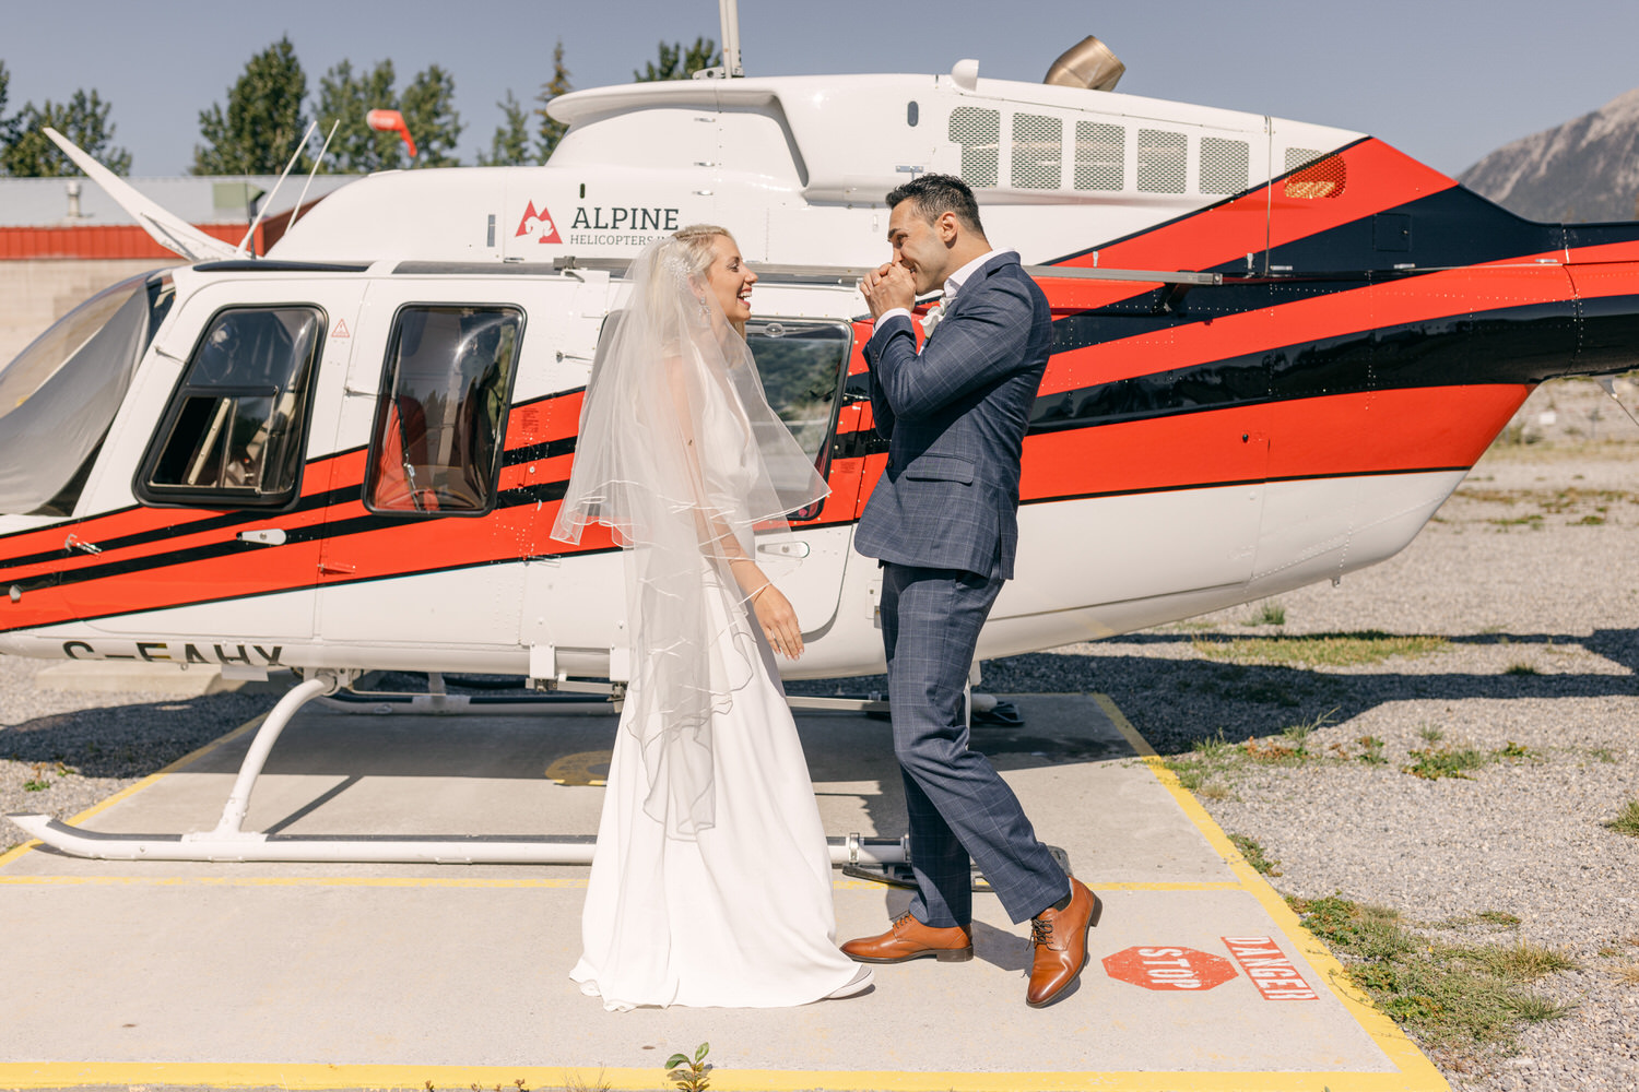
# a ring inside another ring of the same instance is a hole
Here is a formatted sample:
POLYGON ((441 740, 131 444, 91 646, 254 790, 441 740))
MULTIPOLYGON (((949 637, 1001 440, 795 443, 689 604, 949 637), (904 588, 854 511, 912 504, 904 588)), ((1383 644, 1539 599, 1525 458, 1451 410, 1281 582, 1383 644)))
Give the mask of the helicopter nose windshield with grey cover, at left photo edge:
POLYGON ((175 293, 141 273, 69 311, 0 370, 0 512, 69 516, 175 293))

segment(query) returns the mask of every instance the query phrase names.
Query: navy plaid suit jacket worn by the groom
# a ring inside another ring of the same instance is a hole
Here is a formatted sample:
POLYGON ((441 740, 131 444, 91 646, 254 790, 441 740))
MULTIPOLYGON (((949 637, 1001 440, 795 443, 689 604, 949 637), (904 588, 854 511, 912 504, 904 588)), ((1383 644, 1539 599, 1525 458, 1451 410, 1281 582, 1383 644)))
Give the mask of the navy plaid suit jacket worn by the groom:
POLYGON ((1019 455, 1052 345, 1052 313, 1013 252, 974 272, 916 352, 911 319, 865 344, 888 467, 854 547, 897 565, 1011 580, 1019 455))

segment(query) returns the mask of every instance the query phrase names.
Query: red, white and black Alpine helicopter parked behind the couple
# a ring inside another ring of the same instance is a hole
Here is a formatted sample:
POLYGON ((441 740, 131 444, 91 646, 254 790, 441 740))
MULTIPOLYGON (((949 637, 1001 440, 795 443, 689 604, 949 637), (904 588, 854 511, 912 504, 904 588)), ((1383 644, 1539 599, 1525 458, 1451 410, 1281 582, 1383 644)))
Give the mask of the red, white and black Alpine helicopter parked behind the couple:
POLYGON ((131 842, 36 815, 33 835, 384 860, 239 830, 302 702, 375 668, 628 678, 618 552, 547 532, 620 272, 683 224, 724 224, 760 264, 747 334, 831 483, 767 547, 803 560, 788 678, 883 666, 879 568, 851 550, 885 462, 854 282, 887 254, 883 195, 918 172, 975 188, 1056 324, 1018 578, 982 658, 1382 562, 1536 383, 1639 363, 1639 223, 1528 223, 1360 133, 1116 93, 1095 39, 1044 83, 975 61, 742 77, 728 23, 724 43, 718 79, 554 100, 570 128, 544 167, 370 175, 262 259, 75 152, 192 264, 103 291, 0 372, 0 652, 305 681, 216 832, 131 842))

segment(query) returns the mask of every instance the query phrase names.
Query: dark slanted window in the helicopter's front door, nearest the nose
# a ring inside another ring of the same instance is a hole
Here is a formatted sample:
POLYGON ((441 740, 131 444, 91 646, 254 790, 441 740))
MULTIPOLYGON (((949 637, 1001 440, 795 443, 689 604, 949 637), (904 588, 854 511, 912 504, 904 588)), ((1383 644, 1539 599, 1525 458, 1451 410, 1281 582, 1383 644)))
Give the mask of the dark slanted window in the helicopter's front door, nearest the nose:
POLYGON ((323 329, 315 306, 216 314, 143 458, 136 494, 149 504, 292 503, 323 329))

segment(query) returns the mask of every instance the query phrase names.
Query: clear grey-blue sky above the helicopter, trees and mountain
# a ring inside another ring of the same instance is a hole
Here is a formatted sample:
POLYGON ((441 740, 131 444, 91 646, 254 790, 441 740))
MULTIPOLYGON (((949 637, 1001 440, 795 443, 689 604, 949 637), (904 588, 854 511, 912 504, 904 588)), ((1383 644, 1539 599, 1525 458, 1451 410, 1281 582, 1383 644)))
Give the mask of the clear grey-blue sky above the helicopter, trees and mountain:
MULTIPOLYGON (((1634 0, 741 0, 747 75, 949 72, 1039 82, 1085 34, 1128 67, 1118 90, 1382 138, 1446 174, 1639 87, 1634 0)), ((720 38, 713 0, 0 0, 10 106, 95 88, 136 175, 185 174, 198 113, 226 105, 288 34, 308 77, 390 57, 403 87, 456 79, 472 162, 511 90, 531 100, 552 47, 577 88, 631 80, 659 41, 720 38)))

